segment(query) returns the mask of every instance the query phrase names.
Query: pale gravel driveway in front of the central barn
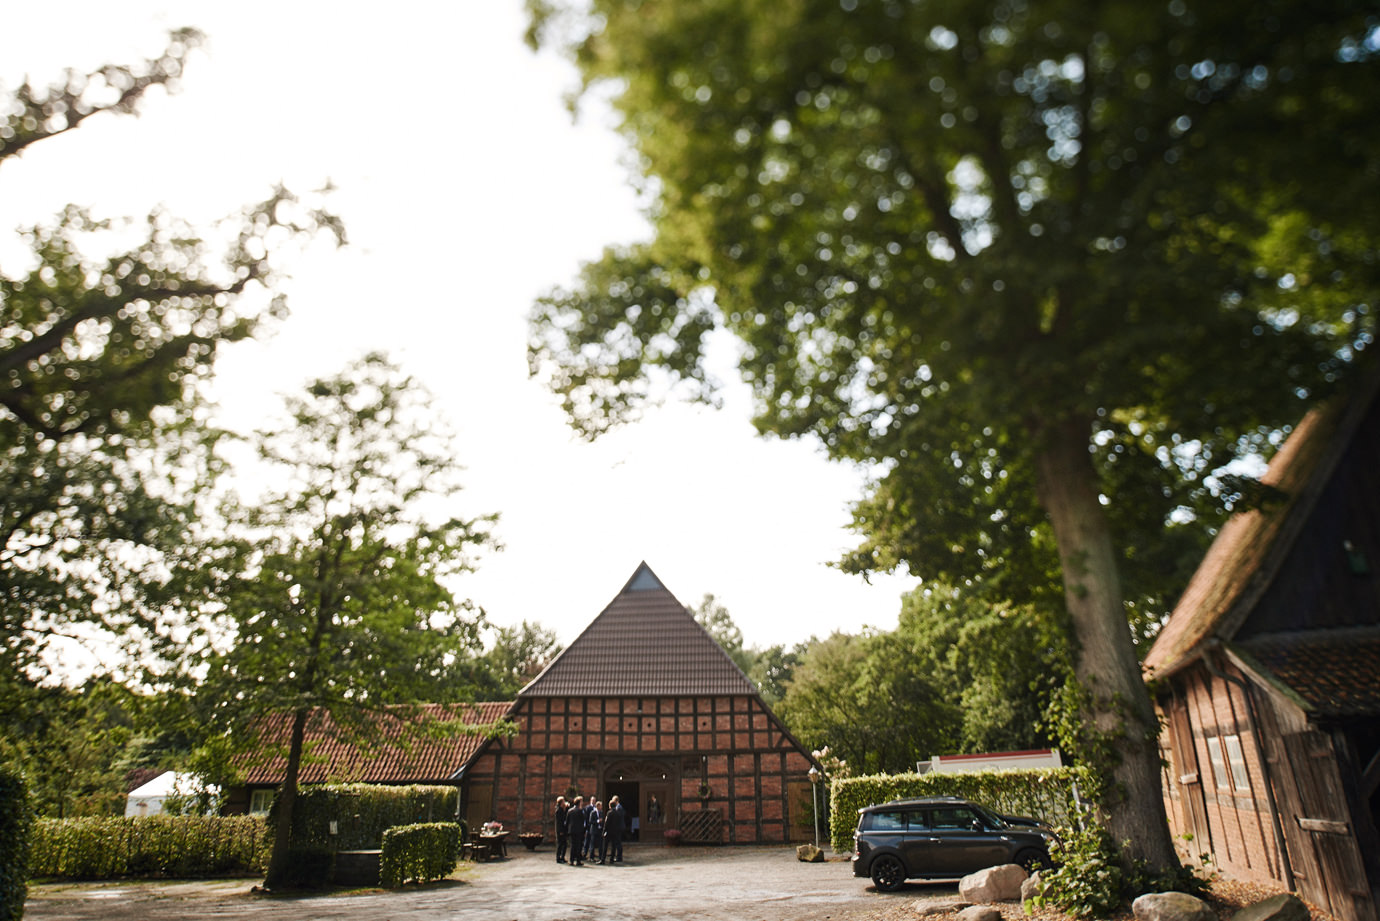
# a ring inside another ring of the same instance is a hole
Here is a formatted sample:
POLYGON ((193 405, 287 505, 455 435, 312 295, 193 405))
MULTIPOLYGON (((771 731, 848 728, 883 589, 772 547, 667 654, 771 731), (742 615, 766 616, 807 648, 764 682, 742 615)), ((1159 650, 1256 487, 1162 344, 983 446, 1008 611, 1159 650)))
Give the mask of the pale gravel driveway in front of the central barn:
POLYGON ((861 921, 901 902, 952 896, 952 884, 886 895, 853 877, 847 860, 802 863, 793 848, 629 845, 618 866, 558 864, 551 846, 509 849, 506 860, 462 864, 451 881, 399 892, 304 898, 253 893, 254 880, 54 884, 30 888, 29 921, 861 921))

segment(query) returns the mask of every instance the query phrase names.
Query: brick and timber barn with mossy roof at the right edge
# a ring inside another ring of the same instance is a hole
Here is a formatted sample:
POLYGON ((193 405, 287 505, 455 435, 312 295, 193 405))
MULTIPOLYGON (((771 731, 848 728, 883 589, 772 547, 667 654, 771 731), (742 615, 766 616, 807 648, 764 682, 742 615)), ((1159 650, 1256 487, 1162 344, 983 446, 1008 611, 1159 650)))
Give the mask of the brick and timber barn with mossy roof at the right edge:
POLYGON ((1145 660, 1190 857, 1343 921, 1380 900, 1380 403, 1310 413, 1145 660))

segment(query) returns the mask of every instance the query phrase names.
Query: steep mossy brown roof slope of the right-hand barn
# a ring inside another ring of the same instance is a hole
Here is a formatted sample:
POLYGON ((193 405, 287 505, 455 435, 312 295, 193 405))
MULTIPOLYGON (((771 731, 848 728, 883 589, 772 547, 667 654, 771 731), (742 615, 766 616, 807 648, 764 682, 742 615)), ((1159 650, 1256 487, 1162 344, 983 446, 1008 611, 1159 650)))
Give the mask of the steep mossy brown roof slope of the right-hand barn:
POLYGON ((1372 373, 1354 399, 1333 399, 1304 416, 1260 478, 1282 498, 1227 519, 1145 656, 1147 672, 1167 675, 1235 637, 1365 420, 1377 384, 1372 373))

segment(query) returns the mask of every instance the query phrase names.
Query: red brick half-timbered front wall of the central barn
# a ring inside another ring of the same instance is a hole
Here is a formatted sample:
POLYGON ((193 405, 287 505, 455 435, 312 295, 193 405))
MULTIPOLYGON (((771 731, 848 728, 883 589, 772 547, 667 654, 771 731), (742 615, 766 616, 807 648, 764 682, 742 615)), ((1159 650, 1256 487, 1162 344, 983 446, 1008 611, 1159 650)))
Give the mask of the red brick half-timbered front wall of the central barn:
POLYGON ((667 766, 679 798, 671 808, 719 811, 727 844, 813 837, 809 811, 793 802, 809 790, 810 759, 755 697, 535 697, 512 718, 519 732, 486 746, 465 773, 466 804, 491 804, 491 815, 468 815, 472 824, 494 817, 551 834, 556 795, 575 787, 606 798, 603 770, 640 759, 667 766))

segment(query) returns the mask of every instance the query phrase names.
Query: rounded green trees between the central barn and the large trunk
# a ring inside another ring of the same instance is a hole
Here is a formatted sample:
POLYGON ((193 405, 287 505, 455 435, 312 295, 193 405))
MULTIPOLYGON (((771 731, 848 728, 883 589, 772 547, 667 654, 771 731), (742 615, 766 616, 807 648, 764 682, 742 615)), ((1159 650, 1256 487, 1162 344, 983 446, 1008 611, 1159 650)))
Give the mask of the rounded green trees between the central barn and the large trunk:
POLYGON ((777 712, 806 746, 828 747, 861 773, 914 770, 937 754, 1046 747, 1065 645, 1034 608, 926 585, 903 599, 896 630, 802 643, 777 712))

